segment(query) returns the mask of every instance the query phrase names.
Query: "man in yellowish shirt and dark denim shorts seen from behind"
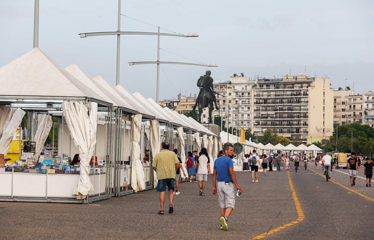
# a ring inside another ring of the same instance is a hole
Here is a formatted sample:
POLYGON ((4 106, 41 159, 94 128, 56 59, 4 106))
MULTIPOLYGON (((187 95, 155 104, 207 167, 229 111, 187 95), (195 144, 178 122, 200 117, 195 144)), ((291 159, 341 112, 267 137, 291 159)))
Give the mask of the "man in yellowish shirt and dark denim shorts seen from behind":
POLYGON ((161 143, 161 151, 156 154, 152 164, 153 170, 157 173, 157 192, 160 192, 160 215, 164 215, 164 201, 166 187, 169 191, 169 213, 174 212, 174 184, 176 180, 176 172, 179 168, 179 160, 173 151, 169 151, 169 143, 161 143))

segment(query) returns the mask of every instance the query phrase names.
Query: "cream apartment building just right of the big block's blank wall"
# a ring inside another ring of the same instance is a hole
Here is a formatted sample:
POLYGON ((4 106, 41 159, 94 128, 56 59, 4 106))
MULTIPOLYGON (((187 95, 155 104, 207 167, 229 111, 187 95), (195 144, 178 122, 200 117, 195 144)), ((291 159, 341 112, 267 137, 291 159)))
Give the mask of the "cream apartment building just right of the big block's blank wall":
POLYGON ((363 95, 350 89, 334 90, 334 127, 363 123, 363 95))

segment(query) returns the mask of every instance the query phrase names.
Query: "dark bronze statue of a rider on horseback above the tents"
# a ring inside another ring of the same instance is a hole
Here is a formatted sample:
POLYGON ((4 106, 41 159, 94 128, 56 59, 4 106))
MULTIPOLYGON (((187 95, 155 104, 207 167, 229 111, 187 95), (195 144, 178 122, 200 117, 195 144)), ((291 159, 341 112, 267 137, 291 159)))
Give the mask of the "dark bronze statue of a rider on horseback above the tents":
POLYGON ((210 71, 207 70, 204 76, 200 76, 197 80, 197 86, 200 88, 200 92, 197 95, 195 105, 192 111, 195 111, 196 107, 198 110, 198 122, 201 123, 201 114, 204 108, 209 109, 209 123, 212 123, 212 111, 215 105, 218 110, 217 102, 215 99, 215 92, 213 86, 213 79, 210 77, 210 71), (214 104, 214 105, 213 105, 214 104))

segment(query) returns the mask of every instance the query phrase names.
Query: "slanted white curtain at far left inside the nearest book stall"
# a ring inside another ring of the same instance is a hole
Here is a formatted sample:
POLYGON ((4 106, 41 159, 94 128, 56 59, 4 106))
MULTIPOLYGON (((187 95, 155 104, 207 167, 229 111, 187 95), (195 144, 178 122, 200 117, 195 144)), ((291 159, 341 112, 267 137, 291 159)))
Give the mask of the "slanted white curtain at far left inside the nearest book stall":
POLYGON ((7 113, 7 118, 3 124, 1 123, 3 129, 0 132, 0 153, 4 155, 8 153, 11 140, 22 121, 25 112, 21 109, 16 109, 14 111, 10 110, 9 112, 5 110, 5 113, 7 113))

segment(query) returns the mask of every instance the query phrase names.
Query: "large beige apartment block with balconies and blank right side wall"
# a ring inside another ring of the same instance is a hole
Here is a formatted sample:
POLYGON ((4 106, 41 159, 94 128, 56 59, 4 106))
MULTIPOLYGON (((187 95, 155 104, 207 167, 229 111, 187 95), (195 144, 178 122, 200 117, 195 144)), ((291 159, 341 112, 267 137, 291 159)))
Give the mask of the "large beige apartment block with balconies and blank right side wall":
POLYGON ((330 79, 283 76, 260 79, 254 88, 254 130, 274 129, 292 141, 312 143, 333 133, 334 91, 330 79))

